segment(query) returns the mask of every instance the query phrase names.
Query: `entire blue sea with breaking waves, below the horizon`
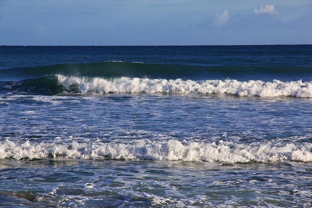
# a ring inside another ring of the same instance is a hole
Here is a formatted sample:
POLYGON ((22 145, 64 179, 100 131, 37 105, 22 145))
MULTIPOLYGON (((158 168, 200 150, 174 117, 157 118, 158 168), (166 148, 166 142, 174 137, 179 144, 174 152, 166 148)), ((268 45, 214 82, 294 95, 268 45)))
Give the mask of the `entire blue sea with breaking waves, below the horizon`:
POLYGON ((0 208, 312 207, 312 45, 0 46, 0 208))

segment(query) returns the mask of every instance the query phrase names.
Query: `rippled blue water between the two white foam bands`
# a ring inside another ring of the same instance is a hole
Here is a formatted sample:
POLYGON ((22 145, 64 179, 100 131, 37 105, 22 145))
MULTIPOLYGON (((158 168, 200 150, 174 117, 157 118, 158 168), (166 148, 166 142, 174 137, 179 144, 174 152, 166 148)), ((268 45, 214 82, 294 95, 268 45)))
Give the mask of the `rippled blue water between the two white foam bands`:
POLYGON ((1 136, 10 141, 312 141, 311 98, 5 95, 0 105, 1 136))

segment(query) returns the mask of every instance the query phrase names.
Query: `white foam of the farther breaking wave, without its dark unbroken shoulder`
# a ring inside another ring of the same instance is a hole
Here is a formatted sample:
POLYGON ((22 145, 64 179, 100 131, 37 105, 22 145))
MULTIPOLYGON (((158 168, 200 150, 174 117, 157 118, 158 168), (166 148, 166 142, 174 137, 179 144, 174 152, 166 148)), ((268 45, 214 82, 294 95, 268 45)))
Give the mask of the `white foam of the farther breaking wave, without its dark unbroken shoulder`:
POLYGON ((115 79, 57 75, 65 89, 75 88, 80 93, 226 93, 260 97, 312 97, 312 82, 273 80, 181 80, 121 77, 115 79))

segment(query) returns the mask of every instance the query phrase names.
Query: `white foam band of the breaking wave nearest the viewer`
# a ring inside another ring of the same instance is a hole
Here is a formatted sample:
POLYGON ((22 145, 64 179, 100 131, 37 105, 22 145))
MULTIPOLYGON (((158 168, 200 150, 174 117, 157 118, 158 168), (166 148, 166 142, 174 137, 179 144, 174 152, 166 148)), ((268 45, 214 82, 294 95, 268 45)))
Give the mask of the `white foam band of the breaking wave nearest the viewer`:
POLYGON ((117 160, 169 160, 197 162, 280 162, 312 161, 312 144, 234 144, 229 142, 200 143, 187 141, 138 140, 127 143, 18 143, 0 142, 0 159, 72 158, 117 160))

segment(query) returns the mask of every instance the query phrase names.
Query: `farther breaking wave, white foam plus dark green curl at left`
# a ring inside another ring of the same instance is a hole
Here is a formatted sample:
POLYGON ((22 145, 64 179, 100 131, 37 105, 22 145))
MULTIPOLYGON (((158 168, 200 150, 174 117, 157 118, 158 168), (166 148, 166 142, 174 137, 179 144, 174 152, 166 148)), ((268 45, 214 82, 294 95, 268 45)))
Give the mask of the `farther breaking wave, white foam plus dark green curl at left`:
POLYGON ((40 95, 106 93, 173 93, 173 94, 229 94, 257 97, 312 97, 312 82, 302 80, 283 82, 272 80, 238 81, 225 80, 182 80, 150 78, 103 78, 87 76, 43 76, 18 82, 0 82, 2 93, 24 93, 40 95))

